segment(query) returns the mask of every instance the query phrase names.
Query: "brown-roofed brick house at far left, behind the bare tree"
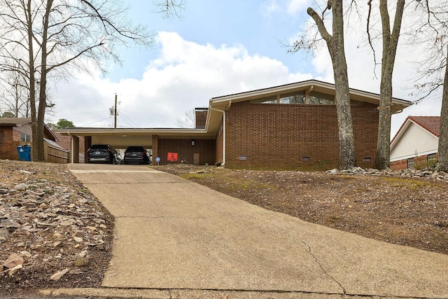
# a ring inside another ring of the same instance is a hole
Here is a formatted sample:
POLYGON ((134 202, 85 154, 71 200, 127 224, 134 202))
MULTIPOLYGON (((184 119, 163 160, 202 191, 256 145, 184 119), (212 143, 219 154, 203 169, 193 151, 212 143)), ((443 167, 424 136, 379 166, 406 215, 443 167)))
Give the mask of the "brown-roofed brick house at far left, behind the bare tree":
MULTIPOLYGON (((57 141, 45 125, 44 139, 57 141)), ((31 118, 0 118, 0 159, 18 160, 17 146, 31 144, 31 118)))

